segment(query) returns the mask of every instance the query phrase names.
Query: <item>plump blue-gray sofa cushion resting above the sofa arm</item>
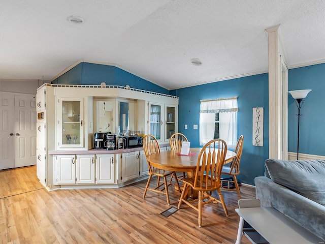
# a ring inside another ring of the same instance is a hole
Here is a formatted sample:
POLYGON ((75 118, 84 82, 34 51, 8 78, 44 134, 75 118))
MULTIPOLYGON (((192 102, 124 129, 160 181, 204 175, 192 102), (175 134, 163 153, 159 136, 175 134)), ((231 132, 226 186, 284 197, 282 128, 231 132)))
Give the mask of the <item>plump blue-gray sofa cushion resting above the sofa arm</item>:
POLYGON ((325 206, 325 161, 268 159, 265 166, 274 182, 325 206))

